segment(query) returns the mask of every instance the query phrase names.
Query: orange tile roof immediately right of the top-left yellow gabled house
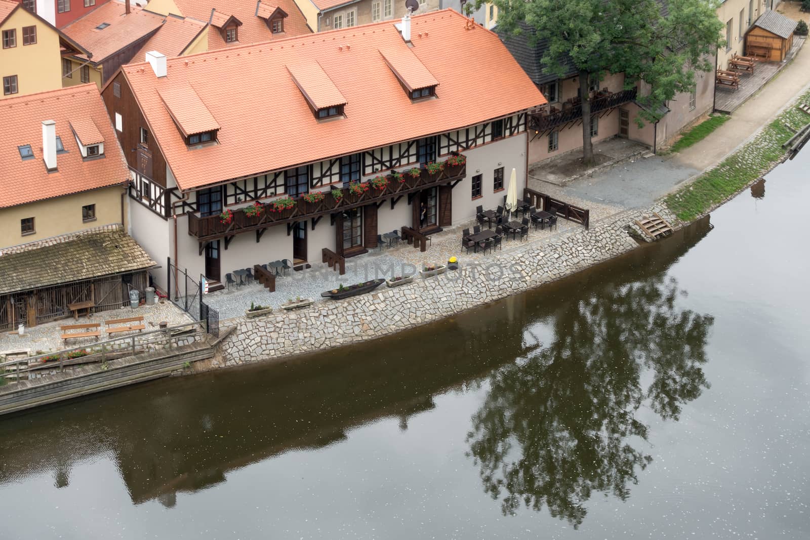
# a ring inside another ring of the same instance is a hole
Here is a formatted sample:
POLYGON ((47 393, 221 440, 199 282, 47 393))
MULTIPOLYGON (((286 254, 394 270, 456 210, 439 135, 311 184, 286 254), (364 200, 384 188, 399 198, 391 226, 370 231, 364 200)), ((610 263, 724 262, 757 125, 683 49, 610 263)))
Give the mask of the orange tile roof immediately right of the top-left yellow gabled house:
MULTIPOLYGON (((143 10, 135 2, 131 3, 130 15, 124 15, 124 11, 123 2, 110 0, 68 24, 62 31, 92 53, 93 63, 100 64, 130 43, 155 32, 164 21, 163 15, 143 10), (96 27, 102 23, 109 26, 98 30, 96 27)), ((84 55, 76 56, 87 59, 84 55)))

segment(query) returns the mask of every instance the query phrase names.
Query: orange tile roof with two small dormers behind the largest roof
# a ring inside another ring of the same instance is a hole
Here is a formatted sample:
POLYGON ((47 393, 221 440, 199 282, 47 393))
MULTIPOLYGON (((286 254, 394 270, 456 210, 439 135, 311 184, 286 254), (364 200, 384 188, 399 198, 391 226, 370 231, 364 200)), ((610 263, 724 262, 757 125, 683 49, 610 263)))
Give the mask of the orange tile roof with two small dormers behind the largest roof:
MULTIPOLYGON (((208 21, 211 10, 233 15, 242 23, 239 27, 239 44, 258 43, 259 41, 278 40, 283 37, 301 36, 312 32, 307 26, 306 18, 295 0, 273 0, 273 5, 280 7, 288 16, 284 19, 284 33, 273 34, 267 28, 265 19, 256 15, 258 0, 174 0, 180 15, 208 21)), ((220 32, 211 28, 208 32, 208 50, 224 49, 235 44, 225 43, 220 32)), ((238 44, 236 44, 238 45, 238 44)))

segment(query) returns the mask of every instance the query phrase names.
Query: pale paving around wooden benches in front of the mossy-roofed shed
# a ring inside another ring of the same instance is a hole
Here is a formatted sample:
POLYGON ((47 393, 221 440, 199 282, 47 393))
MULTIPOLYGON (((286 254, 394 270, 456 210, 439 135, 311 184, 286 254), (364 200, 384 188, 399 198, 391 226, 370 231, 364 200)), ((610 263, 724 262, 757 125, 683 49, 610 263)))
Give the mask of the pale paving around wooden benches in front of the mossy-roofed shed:
MULTIPOLYGON (((162 304, 155 304, 151 306, 140 306, 139 308, 120 308, 95 313, 90 317, 79 317, 79 321, 70 319, 62 319, 61 321, 46 322, 34 327, 26 327, 25 335, 22 337, 16 334, 3 333, 0 334, 0 361, 4 360, 4 353, 8 351, 18 351, 19 349, 30 349, 30 355, 36 355, 49 351, 60 351, 65 349, 65 343, 59 336, 62 331, 59 326, 74 325, 87 323, 101 323, 102 332, 101 339, 109 339, 103 331, 104 321, 111 319, 124 319, 128 317, 140 317, 143 315, 144 324, 147 330, 157 328, 160 321, 167 321, 169 326, 182 325, 193 319, 189 317, 183 310, 177 308, 169 301, 164 301, 162 304)), ((126 334, 126 333, 122 333, 126 334)), ((117 334, 116 337, 122 337, 122 334, 117 334)), ((94 338, 74 338, 68 341, 67 347, 79 347, 81 345, 91 345, 95 343, 94 338)))

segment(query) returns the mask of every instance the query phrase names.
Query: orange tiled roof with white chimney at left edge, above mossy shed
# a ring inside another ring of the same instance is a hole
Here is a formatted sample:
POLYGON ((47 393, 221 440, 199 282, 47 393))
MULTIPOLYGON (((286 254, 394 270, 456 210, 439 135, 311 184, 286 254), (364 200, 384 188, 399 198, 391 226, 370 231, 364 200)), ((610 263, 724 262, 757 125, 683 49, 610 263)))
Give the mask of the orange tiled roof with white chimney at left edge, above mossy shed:
POLYGON ((60 197, 122 184, 130 178, 104 102, 94 83, 6 98, 0 101, 0 207, 60 197), (42 121, 56 122, 66 153, 57 171, 48 174, 42 161, 42 121), (70 125, 92 121, 107 142, 104 159, 82 159, 70 125), (17 147, 30 144, 34 159, 23 159, 17 147))

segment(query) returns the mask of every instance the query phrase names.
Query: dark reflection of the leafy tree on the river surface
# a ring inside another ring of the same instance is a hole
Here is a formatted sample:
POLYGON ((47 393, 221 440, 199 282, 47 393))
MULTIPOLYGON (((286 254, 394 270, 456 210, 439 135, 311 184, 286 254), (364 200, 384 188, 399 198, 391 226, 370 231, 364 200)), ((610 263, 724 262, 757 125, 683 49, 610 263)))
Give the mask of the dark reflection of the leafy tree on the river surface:
POLYGON ((676 281, 658 276, 564 302, 548 347, 491 376, 467 455, 505 515, 545 504, 576 528, 594 491, 626 500, 652 461, 633 447, 647 438, 638 408, 677 420, 709 388, 701 366, 714 318, 678 308, 676 281))

